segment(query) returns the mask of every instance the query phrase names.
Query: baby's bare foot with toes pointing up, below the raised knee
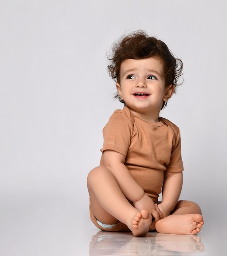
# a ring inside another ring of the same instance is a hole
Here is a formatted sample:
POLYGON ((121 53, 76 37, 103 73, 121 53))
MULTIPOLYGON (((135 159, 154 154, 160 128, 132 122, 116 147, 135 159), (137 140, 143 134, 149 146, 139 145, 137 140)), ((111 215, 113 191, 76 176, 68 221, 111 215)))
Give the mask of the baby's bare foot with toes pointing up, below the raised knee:
POLYGON ((132 218, 132 221, 128 227, 134 236, 145 236, 148 234, 150 222, 150 213, 147 210, 142 210, 132 218))

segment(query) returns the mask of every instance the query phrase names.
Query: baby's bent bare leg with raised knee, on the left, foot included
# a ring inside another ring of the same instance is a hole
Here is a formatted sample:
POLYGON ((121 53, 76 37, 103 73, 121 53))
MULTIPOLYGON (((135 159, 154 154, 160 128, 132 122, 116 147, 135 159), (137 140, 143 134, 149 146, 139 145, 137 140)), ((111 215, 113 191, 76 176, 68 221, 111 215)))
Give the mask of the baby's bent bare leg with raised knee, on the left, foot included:
POLYGON ((105 224, 126 224, 134 236, 148 233, 151 216, 147 210, 139 212, 121 192, 115 176, 104 166, 88 174, 90 206, 95 217, 105 224))

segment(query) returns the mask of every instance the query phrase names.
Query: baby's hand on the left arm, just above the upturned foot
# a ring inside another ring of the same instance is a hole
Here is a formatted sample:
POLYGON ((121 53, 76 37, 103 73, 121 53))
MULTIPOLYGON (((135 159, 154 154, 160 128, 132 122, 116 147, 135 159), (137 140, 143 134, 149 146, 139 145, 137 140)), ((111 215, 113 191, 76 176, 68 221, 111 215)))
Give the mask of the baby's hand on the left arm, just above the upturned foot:
POLYGON ((159 209, 159 207, 157 207, 156 204, 154 204, 154 202, 152 201, 152 199, 148 196, 148 195, 144 195, 143 198, 137 202, 134 203, 134 207, 138 210, 138 211, 142 211, 142 210, 148 210, 152 219, 156 221, 163 219, 163 213, 161 212, 161 210, 159 209))

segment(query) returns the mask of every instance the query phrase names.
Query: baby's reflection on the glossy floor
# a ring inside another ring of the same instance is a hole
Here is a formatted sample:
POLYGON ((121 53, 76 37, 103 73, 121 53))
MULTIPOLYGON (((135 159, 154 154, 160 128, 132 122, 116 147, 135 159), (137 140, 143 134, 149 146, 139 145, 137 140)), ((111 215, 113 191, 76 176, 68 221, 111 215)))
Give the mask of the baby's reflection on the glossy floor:
POLYGON ((146 237, 134 237, 129 232, 99 231, 91 238, 89 256, 188 255, 203 250, 204 246, 198 235, 149 232, 146 237))

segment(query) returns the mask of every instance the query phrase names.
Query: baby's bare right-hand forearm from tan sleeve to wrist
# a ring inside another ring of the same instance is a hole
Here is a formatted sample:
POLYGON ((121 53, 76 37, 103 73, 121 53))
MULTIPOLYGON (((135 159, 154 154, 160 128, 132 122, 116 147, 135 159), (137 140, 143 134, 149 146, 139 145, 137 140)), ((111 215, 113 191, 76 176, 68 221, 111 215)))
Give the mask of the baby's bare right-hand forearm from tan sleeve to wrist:
POLYGON ((169 216, 179 200, 183 184, 182 172, 164 173, 162 202, 159 204, 164 217, 169 216))

